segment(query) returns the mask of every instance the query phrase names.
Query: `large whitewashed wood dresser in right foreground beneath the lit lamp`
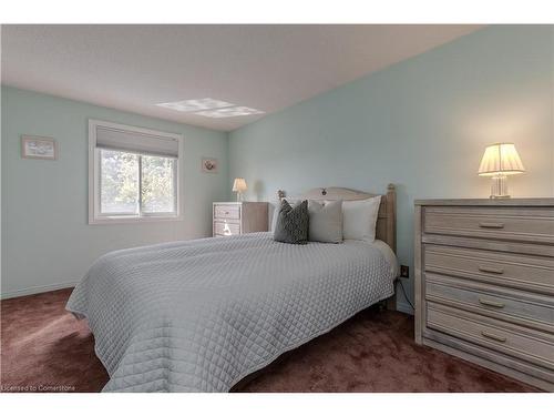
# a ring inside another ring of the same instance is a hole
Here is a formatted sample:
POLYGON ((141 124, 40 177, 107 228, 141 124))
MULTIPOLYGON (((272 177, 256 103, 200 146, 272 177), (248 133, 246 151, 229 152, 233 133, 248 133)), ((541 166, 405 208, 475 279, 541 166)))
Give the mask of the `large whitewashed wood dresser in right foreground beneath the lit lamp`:
POLYGON ((554 199, 416 201, 416 342, 554 390, 554 199))

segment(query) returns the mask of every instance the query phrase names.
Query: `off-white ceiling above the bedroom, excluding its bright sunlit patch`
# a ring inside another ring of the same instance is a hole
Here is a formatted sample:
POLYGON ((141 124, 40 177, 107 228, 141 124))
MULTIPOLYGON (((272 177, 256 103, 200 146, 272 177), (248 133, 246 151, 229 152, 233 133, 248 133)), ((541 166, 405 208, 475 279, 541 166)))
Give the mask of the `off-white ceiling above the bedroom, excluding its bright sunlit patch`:
POLYGON ((480 26, 3 26, 2 83, 230 131, 480 26), (265 114, 156 106, 212 98, 265 114))

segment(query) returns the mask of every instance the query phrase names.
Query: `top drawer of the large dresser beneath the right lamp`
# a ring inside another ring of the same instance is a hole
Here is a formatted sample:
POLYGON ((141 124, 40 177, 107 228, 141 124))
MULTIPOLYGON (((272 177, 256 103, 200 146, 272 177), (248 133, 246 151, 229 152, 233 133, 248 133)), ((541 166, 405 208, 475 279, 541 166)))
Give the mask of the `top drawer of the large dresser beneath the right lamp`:
POLYGON ((425 206, 423 232, 554 244, 552 209, 425 206))

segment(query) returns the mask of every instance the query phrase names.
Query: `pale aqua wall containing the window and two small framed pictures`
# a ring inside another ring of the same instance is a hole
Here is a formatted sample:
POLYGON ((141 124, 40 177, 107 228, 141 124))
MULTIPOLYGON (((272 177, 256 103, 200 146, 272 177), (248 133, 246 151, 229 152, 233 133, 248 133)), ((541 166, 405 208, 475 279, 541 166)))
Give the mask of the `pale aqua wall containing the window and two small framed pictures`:
POLYGON ((2 295, 79 281, 112 250, 212 234, 212 202, 228 193, 226 133, 6 87, 1 102, 2 295), (184 221, 88 225, 89 119, 184 135, 184 221), (21 134, 55 138, 59 160, 21 159, 21 134), (202 173, 202 156, 220 172, 202 173))

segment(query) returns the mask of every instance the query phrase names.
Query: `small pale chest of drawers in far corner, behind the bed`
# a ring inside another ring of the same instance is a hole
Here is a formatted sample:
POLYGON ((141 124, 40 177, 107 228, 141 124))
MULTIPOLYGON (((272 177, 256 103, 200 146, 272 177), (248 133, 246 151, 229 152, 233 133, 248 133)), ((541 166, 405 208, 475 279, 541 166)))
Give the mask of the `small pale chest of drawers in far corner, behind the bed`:
POLYGON ((267 202, 214 202, 213 235, 228 236, 267 231, 267 202))

